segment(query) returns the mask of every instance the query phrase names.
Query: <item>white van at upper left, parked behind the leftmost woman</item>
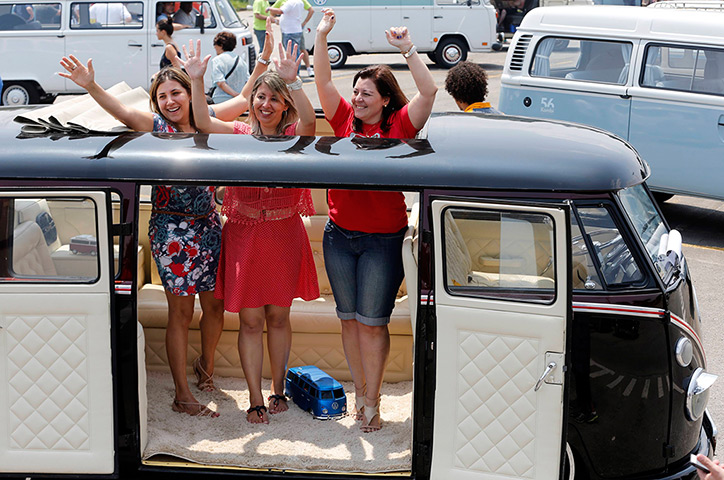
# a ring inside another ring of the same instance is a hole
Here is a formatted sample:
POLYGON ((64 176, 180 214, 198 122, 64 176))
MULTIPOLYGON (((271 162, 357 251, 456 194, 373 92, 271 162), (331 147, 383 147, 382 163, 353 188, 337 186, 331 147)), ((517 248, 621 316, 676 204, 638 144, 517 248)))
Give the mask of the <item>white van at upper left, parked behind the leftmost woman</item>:
MULTIPOLYGON (((163 55, 164 43, 156 38, 156 18, 164 3, 157 0, 107 3, 0 0, 2 104, 33 104, 59 93, 83 92, 75 83, 55 74, 60 71, 61 57, 70 54, 83 62, 93 58, 96 80, 104 88, 121 80, 131 87, 148 88, 163 55), (114 20, 110 15, 96 19, 97 6, 105 7, 106 12, 114 8, 124 14, 127 11, 130 20, 128 17, 114 20)), ((174 11, 178 6, 176 2, 174 11)), ((194 8, 200 13, 197 26, 174 32, 176 43, 188 45, 190 39, 201 38, 203 51, 213 53, 214 35, 228 30, 237 36, 237 53, 253 69, 256 53, 251 31, 228 0, 194 2, 194 8)), ((210 85, 210 78, 207 80, 206 84, 210 85)))

